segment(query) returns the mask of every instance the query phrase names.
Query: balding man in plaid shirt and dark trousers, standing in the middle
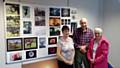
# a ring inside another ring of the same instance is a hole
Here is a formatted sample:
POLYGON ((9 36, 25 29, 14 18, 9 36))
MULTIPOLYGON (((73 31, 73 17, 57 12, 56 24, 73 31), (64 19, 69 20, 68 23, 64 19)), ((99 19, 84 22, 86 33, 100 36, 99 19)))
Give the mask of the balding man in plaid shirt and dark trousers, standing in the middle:
POLYGON ((89 68, 87 59, 87 49, 90 40, 93 38, 93 31, 87 27, 88 21, 86 18, 80 20, 80 26, 73 33, 73 41, 75 46, 75 68, 82 68, 84 63, 85 68, 89 68))

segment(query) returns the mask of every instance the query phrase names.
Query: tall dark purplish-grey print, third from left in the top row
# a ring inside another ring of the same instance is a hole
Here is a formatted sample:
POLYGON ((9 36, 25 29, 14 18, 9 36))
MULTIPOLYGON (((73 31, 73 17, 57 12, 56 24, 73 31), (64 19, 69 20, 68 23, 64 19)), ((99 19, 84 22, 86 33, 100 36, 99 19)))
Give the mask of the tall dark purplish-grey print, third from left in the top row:
POLYGON ((35 13, 35 26, 45 26, 45 8, 34 9, 35 13))

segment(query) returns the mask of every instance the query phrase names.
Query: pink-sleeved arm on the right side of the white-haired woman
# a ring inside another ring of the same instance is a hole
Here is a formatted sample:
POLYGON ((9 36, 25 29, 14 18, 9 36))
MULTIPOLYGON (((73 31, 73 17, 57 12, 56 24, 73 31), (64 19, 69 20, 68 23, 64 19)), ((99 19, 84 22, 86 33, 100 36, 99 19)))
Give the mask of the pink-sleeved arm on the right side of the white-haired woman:
POLYGON ((107 55, 108 55, 108 48, 109 48, 109 44, 107 42, 103 42, 102 53, 99 57, 97 57, 95 59, 95 63, 99 63, 99 62, 104 61, 105 57, 107 57, 107 55))

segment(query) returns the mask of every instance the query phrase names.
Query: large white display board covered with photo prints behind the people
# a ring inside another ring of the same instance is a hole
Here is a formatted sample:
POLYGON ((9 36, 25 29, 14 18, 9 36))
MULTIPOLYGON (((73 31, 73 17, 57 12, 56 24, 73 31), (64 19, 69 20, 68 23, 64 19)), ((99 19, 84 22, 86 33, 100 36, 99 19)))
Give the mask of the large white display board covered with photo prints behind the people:
POLYGON ((77 9, 5 3, 6 63, 56 56, 61 28, 77 27, 77 9))

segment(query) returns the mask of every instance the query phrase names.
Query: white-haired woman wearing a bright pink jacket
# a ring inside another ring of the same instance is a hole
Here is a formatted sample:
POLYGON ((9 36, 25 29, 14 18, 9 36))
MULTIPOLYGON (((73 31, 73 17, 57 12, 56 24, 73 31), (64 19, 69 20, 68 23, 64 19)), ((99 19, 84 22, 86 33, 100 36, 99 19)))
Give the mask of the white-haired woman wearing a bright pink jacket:
POLYGON ((108 68, 109 43, 102 36, 102 29, 95 28, 93 38, 90 41, 87 57, 90 61, 90 68, 108 68))

